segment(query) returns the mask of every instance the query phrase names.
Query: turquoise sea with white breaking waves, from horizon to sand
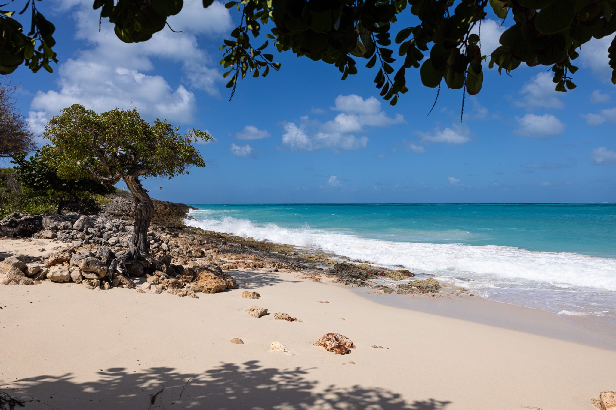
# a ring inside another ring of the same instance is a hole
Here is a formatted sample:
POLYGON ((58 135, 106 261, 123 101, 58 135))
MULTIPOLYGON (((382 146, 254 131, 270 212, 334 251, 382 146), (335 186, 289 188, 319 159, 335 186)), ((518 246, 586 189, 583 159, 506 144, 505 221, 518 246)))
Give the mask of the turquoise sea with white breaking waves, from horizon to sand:
POLYGON ((192 206, 192 226, 403 266, 616 329, 615 203, 192 206))

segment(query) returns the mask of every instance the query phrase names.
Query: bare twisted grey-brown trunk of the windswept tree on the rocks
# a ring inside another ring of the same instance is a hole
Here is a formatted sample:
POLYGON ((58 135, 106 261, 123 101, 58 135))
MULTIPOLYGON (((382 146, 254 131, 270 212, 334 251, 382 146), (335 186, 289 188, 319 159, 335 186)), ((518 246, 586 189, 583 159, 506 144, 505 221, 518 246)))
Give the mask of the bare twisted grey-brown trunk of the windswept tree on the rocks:
POLYGON ((131 190, 135 197, 135 223, 132 230, 131 242, 136 246, 137 250, 148 254, 150 243, 148 243, 148 228, 152 222, 154 215, 154 204, 147 189, 139 182, 139 175, 143 175, 145 171, 134 171, 129 175, 124 176, 124 182, 128 189, 131 190))

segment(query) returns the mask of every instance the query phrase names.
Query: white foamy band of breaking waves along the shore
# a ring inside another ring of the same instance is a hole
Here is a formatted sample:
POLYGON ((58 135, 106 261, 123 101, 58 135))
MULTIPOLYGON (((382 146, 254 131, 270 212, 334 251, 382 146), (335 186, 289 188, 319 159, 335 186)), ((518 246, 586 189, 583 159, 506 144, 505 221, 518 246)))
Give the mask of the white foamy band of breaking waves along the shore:
POLYGON ((208 219, 208 213, 203 211, 190 215, 203 219, 187 219, 186 224, 209 231, 288 243, 382 266, 402 265, 413 272, 436 274, 452 282, 470 279, 474 288, 549 285, 563 291, 575 291, 576 287, 616 291, 616 259, 510 246, 392 242, 307 226, 288 229, 273 223, 259 226, 248 219, 208 219))

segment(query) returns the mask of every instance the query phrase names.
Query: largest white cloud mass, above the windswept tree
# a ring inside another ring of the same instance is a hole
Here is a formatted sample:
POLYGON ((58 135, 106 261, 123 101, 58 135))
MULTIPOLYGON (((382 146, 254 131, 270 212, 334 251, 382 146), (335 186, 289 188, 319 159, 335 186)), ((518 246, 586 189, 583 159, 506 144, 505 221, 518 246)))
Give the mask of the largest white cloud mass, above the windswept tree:
POLYGON ((232 26, 229 10, 221 2, 214 2, 207 9, 199 4, 197 0, 185 2, 188 10, 180 13, 183 17, 169 20, 175 30, 183 29, 184 33, 163 30, 147 42, 126 44, 115 36, 110 24, 103 24, 100 32, 92 30, 98 26, 99 18, 91 2, 61 2, 64 9, 75 10, 72 17, 76 38, 85 41, 89 48, 60 65, 57 90, 36 93, 31 103, 34 115, 49 119, 60 109, 79 103, 99 112, 132 106, 145 117, 192 120, 196 103, 190 89, 217 95, 217 84, 222 81, 219 71, 211 68, 214 63, 209 55, 198 47, 196 36, 222 33, 232 26), (162 76, 148 74, 155 69, 155 59, 180 63, 183 84, 172 87, 162 76))

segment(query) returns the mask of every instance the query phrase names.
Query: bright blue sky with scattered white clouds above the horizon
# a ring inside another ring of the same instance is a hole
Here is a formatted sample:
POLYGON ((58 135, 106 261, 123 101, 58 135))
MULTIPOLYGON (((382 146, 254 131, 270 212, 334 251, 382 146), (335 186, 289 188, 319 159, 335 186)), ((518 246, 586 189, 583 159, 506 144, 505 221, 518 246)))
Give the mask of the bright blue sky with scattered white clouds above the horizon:
MULTIPOLYGON (((616 202, 616 95, 607 47, 582 50, 578 88, 553 90, 543 67, 513 77, 486 72, 484 90, 436 90, 407 77, 394 107, 378 97, 374 69, 340 81, 334 66, 275 53, 278 73, 239 82, 229 102, 219 45, 238 15, 198 0, 169 22, 174 30, 123 44, 91 0, 45 0, 57 27, 54 73, 18 69, 20 104, 42 130, 60 109, 136 106, 184 130, 208 130, 198 145, 205 169, 148 179, 153 197, 185 203, 616 202)), ((482 25, 482 52, 498 45, 500 22, 482 25)), ((408 71, 407 71, 408 73, 408 71)))

